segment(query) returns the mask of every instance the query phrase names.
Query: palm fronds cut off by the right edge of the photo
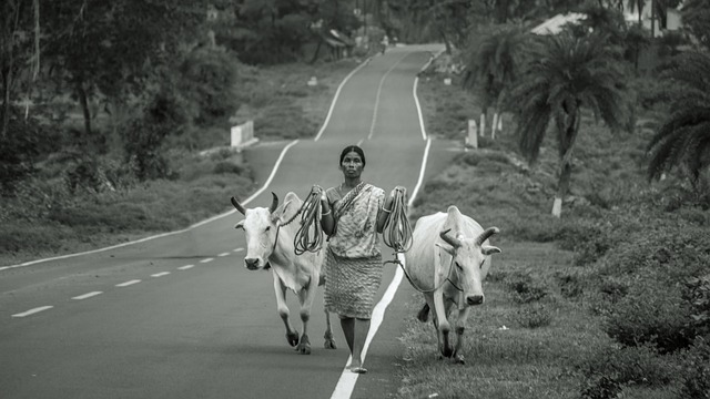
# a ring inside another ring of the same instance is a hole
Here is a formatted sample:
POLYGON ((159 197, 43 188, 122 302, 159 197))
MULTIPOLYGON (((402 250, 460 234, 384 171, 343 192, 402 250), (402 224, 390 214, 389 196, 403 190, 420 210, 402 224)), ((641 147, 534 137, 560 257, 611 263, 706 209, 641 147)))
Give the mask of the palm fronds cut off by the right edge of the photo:
POLYGON ((669 80, 671 113, 647 146, 648 176, 683 167, 693 186, 710 163, 710 55, 678 55, 661 74, 669 80))

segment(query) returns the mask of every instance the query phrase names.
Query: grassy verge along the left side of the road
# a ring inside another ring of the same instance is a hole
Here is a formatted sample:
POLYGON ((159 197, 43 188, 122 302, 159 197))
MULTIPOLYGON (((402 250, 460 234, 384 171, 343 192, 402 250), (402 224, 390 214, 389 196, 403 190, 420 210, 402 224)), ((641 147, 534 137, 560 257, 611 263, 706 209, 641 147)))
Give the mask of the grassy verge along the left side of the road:
MULTIPOLYGON (((357 65, 290 64, 267 69, 244 68, 240 83, 243 106, 237 119, 254 120, 262 141, 312 137, 325 120, 341 81, 357 65), (316 76, 318 84, 306 82, 316 76)), ((200 147, 229 145, 229 126, 199 132, 200 147)), ((187 137, 172 137, 173 144, 187 137)), ((115 161, 101 161, 100 170, 121 174, 115 161)), ((17 197, 0 207, 0 265, 55 256, 184 228, 229 211, 231 195, 246 197, 254 187, 242 154, 219 151, 207 156, 169 150, 171 178, 139 183, 125 174, 123 186, 71 187, 81 163, 49 157, 17 197)))

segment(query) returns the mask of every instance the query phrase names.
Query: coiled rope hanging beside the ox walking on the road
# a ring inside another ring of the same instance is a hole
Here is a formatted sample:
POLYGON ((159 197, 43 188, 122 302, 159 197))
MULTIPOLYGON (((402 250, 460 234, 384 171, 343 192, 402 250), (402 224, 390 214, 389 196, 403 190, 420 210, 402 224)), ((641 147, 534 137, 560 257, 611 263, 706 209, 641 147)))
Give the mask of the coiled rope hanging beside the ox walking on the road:
MULTIPOLYGON (((321 226, 321 193, 323 188, 318 185, 311 187, 311 193, 303 201, 301 209, 296 213, 301 215, 301 227, 293 237, 293 250, 296 255, 306 252, 318 252, 323 245, 323 227, 321 226)), ((291 222, 291 221, 290 221, 291 222)))

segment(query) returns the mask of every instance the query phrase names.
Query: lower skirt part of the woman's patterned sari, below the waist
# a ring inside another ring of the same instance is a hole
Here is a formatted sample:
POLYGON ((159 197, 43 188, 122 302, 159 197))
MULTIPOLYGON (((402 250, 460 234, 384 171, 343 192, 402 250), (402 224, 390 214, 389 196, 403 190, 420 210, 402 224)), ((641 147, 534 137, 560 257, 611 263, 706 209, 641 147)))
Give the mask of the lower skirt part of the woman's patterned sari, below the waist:
POLYGON ((382 255, 346 258, 326 249, 325 309, 341 317, 369 319, 382 283, 382 255))

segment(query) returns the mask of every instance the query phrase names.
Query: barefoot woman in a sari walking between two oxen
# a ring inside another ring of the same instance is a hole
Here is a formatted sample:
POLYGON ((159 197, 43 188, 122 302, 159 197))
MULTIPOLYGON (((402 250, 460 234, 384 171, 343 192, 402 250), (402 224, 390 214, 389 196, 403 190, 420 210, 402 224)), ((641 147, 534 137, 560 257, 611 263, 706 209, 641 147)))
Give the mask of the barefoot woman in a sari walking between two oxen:
POLYGON ((352 361, 364 374, 363 346, 369 330, 375 294, 382 282, 379 236, 392 213, 393 195, 363 182, 365 154, 357 145, 341 153, 343 183, 323 192, 323 232, 328 236, 325 259, 325 307, 341 318, 352 361))

